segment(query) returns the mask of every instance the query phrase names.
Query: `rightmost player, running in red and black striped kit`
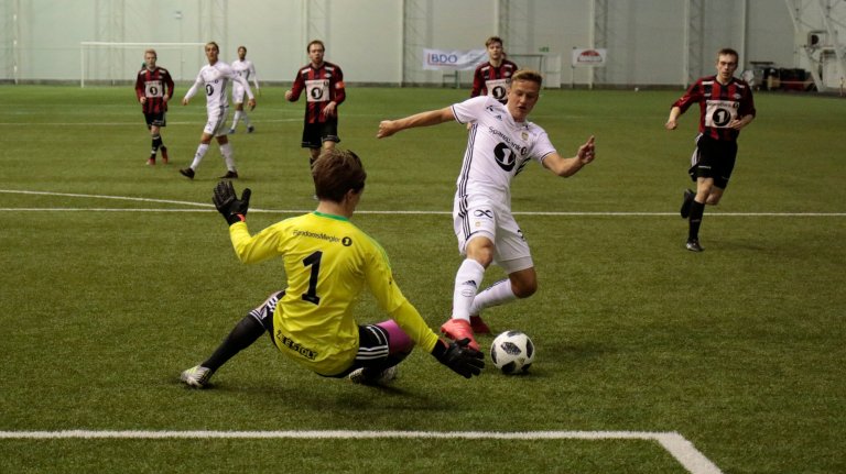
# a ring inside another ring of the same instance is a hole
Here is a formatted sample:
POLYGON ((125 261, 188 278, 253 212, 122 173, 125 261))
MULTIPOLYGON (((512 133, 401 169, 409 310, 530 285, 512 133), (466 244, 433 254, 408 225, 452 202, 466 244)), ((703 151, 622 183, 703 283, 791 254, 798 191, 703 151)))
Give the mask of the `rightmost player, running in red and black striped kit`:
POLYGON ((696 192, 684 191, 682 218, 688 219, 687 250, 702 252, 699 227, 705 205, 719 203, 728 186, 737 158, 737 136, 755 120, 755 100, 749 85, 734 76, 738 54, 723 48, 717 53, 717 74, 698 79, 684 96, 673 102, 664 125, 675 130, 679 117, 694 103, 699 104, 699 134, 691 158, 690 174, 696 192))

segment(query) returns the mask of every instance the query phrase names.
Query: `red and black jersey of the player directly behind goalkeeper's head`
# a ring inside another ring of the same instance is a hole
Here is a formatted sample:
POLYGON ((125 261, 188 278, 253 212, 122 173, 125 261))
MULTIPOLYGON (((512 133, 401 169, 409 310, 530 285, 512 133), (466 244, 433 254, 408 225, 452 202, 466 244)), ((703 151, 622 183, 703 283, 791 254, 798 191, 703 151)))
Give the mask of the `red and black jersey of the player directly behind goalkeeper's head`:
POLYGON ((347 97, 344 89, 344 73, 336 64, 324 62, 321 67, 314 67, 310 63, 296 73, 294 85, 291 87, 291 101, 295 102, 300 99, 300 93, 303 91, 305 91, 305 122, 323 123, 330 119, 321 113, 326 104, 334 101, 336 107, 340 106, 347 97))

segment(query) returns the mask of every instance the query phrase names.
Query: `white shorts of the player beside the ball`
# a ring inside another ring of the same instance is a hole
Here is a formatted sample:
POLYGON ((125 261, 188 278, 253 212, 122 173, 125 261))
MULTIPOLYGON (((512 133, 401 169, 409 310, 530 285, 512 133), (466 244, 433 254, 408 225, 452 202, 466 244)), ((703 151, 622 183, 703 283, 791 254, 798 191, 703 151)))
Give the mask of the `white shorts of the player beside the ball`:
POLYGON ((458 252, 465 255, 467 243, 476 236, 486 236, 494 242, 494 263, 508 274, 534 266, 529 243, 517 224, 511 211, 490 202, 470 202, 466 211, 458 206, 453 211, 455 236, 458 252))

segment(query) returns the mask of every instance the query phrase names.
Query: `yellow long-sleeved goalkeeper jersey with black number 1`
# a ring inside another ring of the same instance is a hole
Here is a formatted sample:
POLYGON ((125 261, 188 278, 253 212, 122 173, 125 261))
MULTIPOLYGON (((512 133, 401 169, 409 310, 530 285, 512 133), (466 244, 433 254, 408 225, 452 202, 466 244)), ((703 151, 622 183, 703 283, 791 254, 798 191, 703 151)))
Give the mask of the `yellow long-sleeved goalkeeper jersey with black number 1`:
POLYGON ((347 218, 315 211, 256 235, 237 222, 229 236, 242 263, 282 257, 286 286, 273 315, 273 340, 307 368, 336 375, 352 363, 358 351, 352 310, 365 286, 421 349, 431 352, 437 342, 397 287, 382 246, 347 218))

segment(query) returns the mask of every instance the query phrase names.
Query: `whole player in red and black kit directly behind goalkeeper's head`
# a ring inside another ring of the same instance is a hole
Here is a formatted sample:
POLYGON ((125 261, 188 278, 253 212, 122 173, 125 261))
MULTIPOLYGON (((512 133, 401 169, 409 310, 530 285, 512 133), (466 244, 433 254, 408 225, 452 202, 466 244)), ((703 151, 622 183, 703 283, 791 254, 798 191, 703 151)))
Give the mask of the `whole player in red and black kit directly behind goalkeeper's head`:
POLYGON ((321 155, 321 150, 332 150, 338 137, 338 106, 347 95, 344 73, 337 64, 323 60, 326 46, 314 40, 306 47, 311 62, 296 71, 294 84, 285 91, 285 100, 296 102, 305 91, 305 123, 303 148, 310 148, 310 165, 321 155))

